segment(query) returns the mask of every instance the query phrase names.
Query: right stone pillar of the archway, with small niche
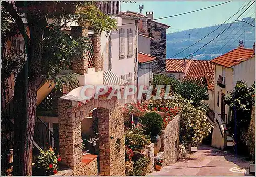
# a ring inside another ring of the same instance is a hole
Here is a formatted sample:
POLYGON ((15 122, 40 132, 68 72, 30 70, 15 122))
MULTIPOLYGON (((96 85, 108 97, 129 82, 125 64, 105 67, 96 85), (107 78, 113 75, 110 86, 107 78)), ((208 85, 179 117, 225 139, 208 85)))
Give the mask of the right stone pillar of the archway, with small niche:
POLYGON ((100 175, 125 176, 122 108, 98 109, 100 175))

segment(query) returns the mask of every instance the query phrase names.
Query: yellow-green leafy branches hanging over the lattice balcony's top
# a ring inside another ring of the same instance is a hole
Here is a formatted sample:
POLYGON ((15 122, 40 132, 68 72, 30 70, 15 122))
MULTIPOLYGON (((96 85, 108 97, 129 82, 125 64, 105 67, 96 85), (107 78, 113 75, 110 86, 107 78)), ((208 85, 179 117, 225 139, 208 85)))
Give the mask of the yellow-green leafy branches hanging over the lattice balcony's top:
POLYGON ((87 2, 86 6, 78 6, 75 19, 84 26, 89 23, 94 31, 99 34, 102 31, 109 34, 113 28, 117 29, 116 20, 101 12, 93 2, 87 2))

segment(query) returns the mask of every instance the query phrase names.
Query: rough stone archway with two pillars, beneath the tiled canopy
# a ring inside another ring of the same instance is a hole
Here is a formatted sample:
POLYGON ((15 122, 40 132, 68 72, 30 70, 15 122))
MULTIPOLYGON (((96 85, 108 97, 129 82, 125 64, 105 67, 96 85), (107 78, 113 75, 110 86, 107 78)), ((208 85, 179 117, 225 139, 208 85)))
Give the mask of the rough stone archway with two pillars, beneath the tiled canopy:
POLYGON ((122 107, 116 99, 91 99, 86 104, 62 97, 59 100, 59 146, 62 161, 74 170, 74 175, 86 175, 81 162, 81 122, 97 109, 100 149, 100 174, 125 175, 125 145, 122 107), (118 140, 119 139, 119 140, 118 140), (118 140, 118 144, 116 143, 118 140), (116 147, 119 150, 116 150, 116 147))

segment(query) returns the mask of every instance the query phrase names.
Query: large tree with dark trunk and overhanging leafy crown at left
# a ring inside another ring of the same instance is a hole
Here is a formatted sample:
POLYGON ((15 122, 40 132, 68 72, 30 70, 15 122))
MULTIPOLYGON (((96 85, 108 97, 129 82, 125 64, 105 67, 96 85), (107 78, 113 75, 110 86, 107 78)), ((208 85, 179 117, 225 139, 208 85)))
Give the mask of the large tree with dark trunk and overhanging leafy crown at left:
MULTIPOLYGON (((78 55, 81 57, 83 50, 88 49, 85 38, 70 38, 69 35, 61 31, 60 26, 60 21, 63 19, 65 20, 64 25, 67 24, 68 20, 79 20, 83 13, 76 10, 84 6, 87 6, 84 2, 70 1, 2 2, 2 11, 5 12, 5 16, 2 16, 2 18, 11 19, 15 23, 15 27, 24 38, 24 53, 27 56, 26 61, 14 60, 11 63, 13 65, 9 68, 17 69, 6 71, 14 72, 16 75, 13 175, 31 175, 37 88, 48 79, 55 80, 56 75, 61 70, 70 66, 72 56, 78 55), (23 22, 22 13, 26 16, 27 24, 23 22), (55 18, 55 23, 49 24, 48 18, 55 18), (27 27, 29 34, 26 31, 27 27)), ((104 23, 105 26, 108 26, 104 30, 113 27, 113 24, 109 26, 109 22, 113 22, 110 17, 102 15, 102 12, 98 9, 94 13, 98 13, 100 19, 109 19, 104 23)), ((8 27, 8 23, 5 24, 8 27)), ((80 24, 84 25, 84 21, 81 21, 80 24)), ((5 32, 11 33, 8 28, 5 29, 5 32)), ((101 31, 98 30, 98 32, 101 31)), ((7 61, 6 59, 10 58, 11 55, 5 56, 3 60, 7 61)), ((8 76, 8 74, 6 75, 8 76)))

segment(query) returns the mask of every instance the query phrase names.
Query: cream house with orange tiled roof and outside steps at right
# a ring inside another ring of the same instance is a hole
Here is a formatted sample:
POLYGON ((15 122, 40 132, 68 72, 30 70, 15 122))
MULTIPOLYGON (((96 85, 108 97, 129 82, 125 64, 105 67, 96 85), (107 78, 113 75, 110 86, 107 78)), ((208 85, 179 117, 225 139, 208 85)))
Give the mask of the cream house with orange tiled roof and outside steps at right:
POLYGON ((255 43, 253 49, 244 48, 240 45, 230 52, 216 57, 210 61, 215 65, 214 79, 214 107, 216 124, 212 135, 212 146, 223 149, 232 146, 233 140, 230 136, 224 138, 224 128, 231 121, 231 109, 225 103, 224 96, 229 95, 236 82, 246 81, 251 86, 255 81, 255 43))

